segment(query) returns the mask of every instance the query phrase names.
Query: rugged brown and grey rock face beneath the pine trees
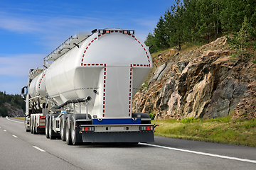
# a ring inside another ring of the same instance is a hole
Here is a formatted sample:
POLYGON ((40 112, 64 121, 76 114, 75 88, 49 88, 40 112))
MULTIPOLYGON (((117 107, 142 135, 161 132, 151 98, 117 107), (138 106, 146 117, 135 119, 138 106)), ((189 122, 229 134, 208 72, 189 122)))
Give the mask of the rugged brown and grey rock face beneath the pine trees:
POLYGON ((256 64, 232 60, 226 38, 190 52, 171 49, 153 59, 149 81, 133 98, 133 112, 175 118, 256 117, 256 64))

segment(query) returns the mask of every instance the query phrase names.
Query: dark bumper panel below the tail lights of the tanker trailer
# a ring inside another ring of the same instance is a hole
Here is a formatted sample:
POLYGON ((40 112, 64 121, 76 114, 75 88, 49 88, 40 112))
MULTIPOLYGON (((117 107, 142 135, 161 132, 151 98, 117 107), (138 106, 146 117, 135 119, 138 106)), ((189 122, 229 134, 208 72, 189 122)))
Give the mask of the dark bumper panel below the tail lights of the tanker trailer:
POLYGON ((154 132, 82 132, 82 142, 154 142, 154 132))

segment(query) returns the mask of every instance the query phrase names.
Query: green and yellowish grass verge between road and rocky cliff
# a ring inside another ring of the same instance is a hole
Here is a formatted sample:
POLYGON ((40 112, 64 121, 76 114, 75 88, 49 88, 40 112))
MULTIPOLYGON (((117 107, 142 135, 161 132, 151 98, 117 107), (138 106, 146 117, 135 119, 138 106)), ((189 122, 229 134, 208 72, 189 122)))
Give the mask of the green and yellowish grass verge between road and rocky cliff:
POLYGON ((231 120, 228 116, 210 120, 152 120, 152 123, 159 125, 155 129, 155 135, 159 136, 256 147, 256 119, 231 120))

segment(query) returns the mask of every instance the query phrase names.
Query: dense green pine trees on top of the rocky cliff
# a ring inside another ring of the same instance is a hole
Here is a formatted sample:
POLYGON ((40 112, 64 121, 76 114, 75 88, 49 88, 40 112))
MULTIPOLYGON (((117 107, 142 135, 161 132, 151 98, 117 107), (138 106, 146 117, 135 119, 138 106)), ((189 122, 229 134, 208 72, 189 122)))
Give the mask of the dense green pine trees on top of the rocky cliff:
MULTIPOLYGON (((176 0, 160 16, 153 33, 145 44, 150 52, 182 45, 203 45, 225 35, 238 33, 236 42, 247 47, 256 38, 256 1, 254 0, 176 0), (242 25, 245 25, 242 28, 242 25)), ((255 47, 255 43, 253 44, 255 47)))

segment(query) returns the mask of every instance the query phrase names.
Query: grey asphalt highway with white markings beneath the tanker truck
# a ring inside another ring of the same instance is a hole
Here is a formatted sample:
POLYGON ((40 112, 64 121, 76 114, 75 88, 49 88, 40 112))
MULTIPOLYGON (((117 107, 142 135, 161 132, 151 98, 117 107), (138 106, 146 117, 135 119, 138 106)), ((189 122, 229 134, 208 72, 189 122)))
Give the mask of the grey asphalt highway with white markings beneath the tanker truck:
POLYGON ((26 132, 0 118, 0 170, 5 169, 256 169, 256 148, 155 137, 151 144, 75 145, 26 132))

